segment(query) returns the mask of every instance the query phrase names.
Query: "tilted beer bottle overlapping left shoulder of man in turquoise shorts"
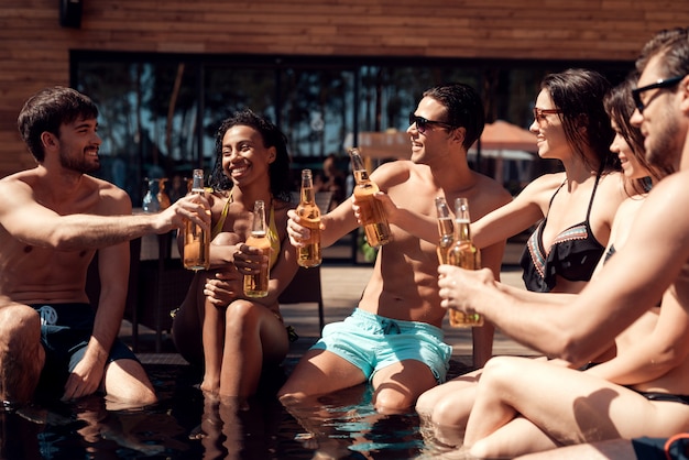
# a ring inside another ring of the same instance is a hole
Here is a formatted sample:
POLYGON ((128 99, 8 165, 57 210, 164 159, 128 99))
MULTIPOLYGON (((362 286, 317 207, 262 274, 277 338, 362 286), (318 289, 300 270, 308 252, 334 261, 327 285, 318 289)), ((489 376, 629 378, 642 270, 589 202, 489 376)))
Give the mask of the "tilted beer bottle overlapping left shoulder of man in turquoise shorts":
POLYGON ((361 221, 367 234, 367 242, 371 248, 378 248, 392 241, 392 233, 383 205, 373 196, 379 191, 378 185, 371 182, 369 173, 363 165, 359 150, 353 147, 349 151, 354 175, 354 197, 361 208, 361 221))

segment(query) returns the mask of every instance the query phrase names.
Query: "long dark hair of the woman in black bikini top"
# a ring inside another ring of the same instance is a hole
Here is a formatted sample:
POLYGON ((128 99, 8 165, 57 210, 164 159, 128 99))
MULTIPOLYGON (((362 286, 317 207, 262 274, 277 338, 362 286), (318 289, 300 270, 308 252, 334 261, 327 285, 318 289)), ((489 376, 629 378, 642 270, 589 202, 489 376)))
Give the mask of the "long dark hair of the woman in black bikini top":
POLYGON ((603 107, 603 97, 610 83, 594 70, 570 68, 547 75, 540 88, 550 94, 565 130, 567 142, 592 169, 619 169, 620 164, 610 151, 614 132, 603 107), (587 157, 587 149, 595 154, 595 162, 587 157))

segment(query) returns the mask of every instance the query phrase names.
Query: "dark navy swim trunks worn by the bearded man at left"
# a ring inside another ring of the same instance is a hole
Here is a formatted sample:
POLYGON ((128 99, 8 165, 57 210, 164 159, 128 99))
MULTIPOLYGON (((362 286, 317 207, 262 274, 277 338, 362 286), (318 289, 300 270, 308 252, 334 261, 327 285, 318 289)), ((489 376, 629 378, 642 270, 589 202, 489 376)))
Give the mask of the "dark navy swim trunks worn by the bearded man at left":
MULTIPOLYGON (((35 394, 59 397, 69 373, 86 353, 96 315, 88 304, 46 304, 31 307, 41 315, 41 343, 45 350, 45 365, 35 394)), ((138 361, 129 347, 116 339, 107 362, 122 359, 138 361)))

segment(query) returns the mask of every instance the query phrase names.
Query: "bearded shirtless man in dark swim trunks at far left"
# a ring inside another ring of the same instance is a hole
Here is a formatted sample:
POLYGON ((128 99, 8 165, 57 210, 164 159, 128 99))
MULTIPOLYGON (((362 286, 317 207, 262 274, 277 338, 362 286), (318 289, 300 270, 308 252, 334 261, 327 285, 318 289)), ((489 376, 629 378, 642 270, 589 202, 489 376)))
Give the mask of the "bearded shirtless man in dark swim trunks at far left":
POLYGON ((45 88, 18 127, 36 166, 0 179, 0 398, 76 399, 101 391, 114 406, 156 396, 145 371, 117 339, 129 281, 129 240, 192 219, 208 228, 208 202, 188 197, 132 216, 129 196, 98 171, 98 108, 65 87, 45 88), (98 251, 101 288, 89 305, 86 274, 98 251))

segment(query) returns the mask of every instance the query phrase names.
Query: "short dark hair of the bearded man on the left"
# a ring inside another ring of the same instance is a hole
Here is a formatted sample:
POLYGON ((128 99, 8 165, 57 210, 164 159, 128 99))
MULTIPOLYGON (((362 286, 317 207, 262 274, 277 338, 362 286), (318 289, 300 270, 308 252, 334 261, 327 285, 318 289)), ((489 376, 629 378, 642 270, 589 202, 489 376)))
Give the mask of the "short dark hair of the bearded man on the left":
POLYGON ((19 112, 17 127, 29 152, 39 163, 45 158, 41 134, 50 132, 59 138, 59 127, 77 120, 98 118, 98 107, 76 89, 55 86, 29 98, 19 112))

